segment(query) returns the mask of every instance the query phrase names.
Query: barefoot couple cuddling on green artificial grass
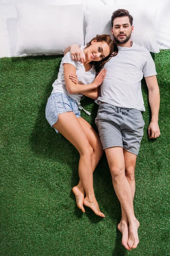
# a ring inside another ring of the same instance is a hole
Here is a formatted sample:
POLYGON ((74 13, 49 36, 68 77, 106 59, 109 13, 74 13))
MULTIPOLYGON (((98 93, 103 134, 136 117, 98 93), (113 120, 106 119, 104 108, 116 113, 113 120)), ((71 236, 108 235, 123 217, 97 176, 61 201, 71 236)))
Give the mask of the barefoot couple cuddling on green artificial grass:
POLYGON ((130 41, 132 22, 129 12, 119 9, 111 17, 111 33, 116 44, 110 36, 101 35, 93 38, 86 47, 68 47, 45 111, 49 124, 79 151, 80 180, 73 188, 77 206, 82 212, 85 212, 83 205, 90 207, 101 217, 105 215, 100 212, 94 195, 93 172, 105 150, 122 208, 118 229, 127 250, 136 248, 139 243, 139 221, 134 215, 133 198, 136 157, 144 128, 141 113, 145 111, 141 91, 143 76, 152 113, 148 136, 156 138, 160 135, 155 64, 147 49, 130 41), (104 65, 105 69, 102 69, 104 65), (97 76, 96 72, 99 72, 97 76), (98 95, 100 84, 101 96, 98 95), (99 136, 80 117, 78 108, 83 109, 80 105, 82 95, 96 99, 99 104, 96 117, 99 136))

